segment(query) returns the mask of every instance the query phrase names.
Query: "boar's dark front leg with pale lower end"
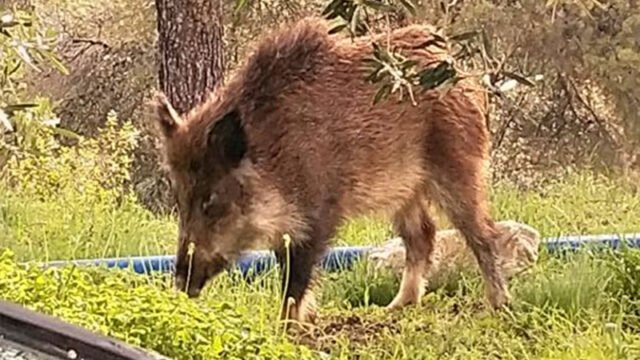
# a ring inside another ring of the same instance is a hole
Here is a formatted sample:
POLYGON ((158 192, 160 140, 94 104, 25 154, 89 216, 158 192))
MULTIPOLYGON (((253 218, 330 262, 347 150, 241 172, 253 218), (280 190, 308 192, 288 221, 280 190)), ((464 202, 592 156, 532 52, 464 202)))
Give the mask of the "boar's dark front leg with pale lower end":
POLYGON ((280 313, 281 320, 299 323, 315 321, 315 294, 311 286, 326 242, 313 240, 302 244, 292 243, 288 258, 285 249, 276 252, 281 269, 282 291, 286 295, 280 313))

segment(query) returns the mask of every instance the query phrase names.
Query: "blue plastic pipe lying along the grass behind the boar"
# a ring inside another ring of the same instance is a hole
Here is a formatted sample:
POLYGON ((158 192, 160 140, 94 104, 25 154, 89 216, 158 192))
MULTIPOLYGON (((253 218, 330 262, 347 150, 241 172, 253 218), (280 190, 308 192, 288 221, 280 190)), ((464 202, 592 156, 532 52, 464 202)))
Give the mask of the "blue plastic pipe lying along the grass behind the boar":
MULTIPOLYGON (((640 248, 640 233, 623 234, 622 236, 605 234, 546 238, 542 241, 542 244, 550 254, 562 254, 567 251, 575 251, 585 246, 619 249, 623 242, 626 242, 629 247, 640 248)), ((371 249, 372 246, 345 246, 332 248, 327 255, 325 255, 322 261, 322 267, 327 271, 349 269, 358 259, 362 258, 371 249)), ((275 261, 275 256, 271 251, 251 251, 240 257, 235 264, 235 269, 240 270, 243 277, 249 278, 271 269, 275 265, 275 261)), ((173 270, 173 262, 173 255, 160 255, 69 261, 61 260, 51 261, 41 265, 44 267, 59 267, 70 264, 79 266, 96 265, 106 266, 108 268, 131 268, 138 274, 147 274, 151 272, 171 272, 173 270)))

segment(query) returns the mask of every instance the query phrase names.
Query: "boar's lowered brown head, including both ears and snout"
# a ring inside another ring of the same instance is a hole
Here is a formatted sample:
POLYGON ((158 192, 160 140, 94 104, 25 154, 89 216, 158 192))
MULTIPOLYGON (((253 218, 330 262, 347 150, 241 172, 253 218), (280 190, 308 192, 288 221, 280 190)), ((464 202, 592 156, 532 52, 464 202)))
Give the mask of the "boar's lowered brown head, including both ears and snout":
POLYGON ((158 94, 153 111, 178 206, 175 284, 197 297, 251 241, 249 189, 240 175, 247 138, 235 110, 194 111, 183 119, 158 94))

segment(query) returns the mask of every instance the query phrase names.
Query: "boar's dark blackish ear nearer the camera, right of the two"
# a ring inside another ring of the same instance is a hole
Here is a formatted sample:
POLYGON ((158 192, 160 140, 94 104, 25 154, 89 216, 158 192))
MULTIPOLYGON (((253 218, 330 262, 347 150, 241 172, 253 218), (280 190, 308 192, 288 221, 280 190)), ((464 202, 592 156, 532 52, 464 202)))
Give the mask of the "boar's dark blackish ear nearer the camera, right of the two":
POLYGON ((240 114, 232 110, 216 121, 208 133, 209 149, 228 168, 238 166, 247 152, 247 134, 240 122, 240 114))

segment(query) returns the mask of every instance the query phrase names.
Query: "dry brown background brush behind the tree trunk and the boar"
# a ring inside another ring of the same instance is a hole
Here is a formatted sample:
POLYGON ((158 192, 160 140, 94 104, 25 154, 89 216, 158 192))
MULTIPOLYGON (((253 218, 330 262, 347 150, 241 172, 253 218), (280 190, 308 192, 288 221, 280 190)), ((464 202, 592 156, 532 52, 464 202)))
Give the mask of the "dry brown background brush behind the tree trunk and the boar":
MULTIPOLYGON (((156 81, 152 2, 33 3, 43 22, 58 31, 57 50, 70 75, 33 74, 32 89, 50 96, 58 104, 61 123, 81 134, 95 134, 110 110, 132 119, 141 131, 132 171, 136 193, 148 207, 166 210, 170 199, 142 121, 144 100, 156 81), (51 11, 54 5, 57 10, 51 11)), ((226 0, 226 76, 232 76, 259 34, 303 16, 319 15, 328 3, 245 1, 242 11, 236 11, 236 1, 226 0)), ((496 180, 531 188, 567 167, 636 173, 640 14, 635 1, 414 3, 416 17, 394 15, 393 26, 428 21, 450 34, 482 30, 489 40, 485 58, 490 61, 467 66, 541 79, 535 88, 520 86, 492 98, 496 180)), ((372 23, 374 28, 379 24, 372 23)))

